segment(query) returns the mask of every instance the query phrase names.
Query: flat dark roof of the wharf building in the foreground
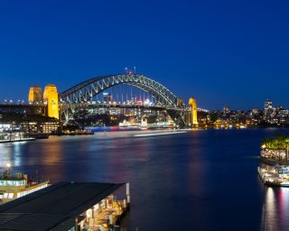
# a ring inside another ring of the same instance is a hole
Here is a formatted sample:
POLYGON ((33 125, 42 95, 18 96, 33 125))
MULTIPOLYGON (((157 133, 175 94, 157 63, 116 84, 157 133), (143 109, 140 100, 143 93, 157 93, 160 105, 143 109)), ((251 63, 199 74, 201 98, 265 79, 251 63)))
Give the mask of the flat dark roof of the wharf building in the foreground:
POLYGON ((68 230, 121 184, 59 182, 0 206, 0 230, 68 230), (79 220, 81 217, 79 217, 79 220))

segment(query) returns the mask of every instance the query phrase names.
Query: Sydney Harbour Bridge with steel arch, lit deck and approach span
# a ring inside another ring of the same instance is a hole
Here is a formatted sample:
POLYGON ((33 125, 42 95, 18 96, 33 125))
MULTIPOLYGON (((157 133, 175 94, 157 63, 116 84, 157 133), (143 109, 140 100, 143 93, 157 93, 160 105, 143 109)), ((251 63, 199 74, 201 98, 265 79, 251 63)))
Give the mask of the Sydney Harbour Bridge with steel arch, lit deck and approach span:
MULTIPOLYGON (((55 86, 54 86, 55 87, 55 86)), ((56 88, 55 88, 56 89, 56 88)), ((80 111, 89 110, 98 113, 104 109, 137 109, 144 111, 165 111, 176 125, 181 128, 197 125, 197 106, 190 98, 186 106, 182 98, 177 97, 161 83, 135 73, 100 76, 83 81, 56 97, 46 96, 40 102, 30 104, 1 104, 0 110, 9 112, 31 112, 58 117, 63 125, 70 123, 80 111)), ((54 94, 55 95, 55 94, 54 94)))

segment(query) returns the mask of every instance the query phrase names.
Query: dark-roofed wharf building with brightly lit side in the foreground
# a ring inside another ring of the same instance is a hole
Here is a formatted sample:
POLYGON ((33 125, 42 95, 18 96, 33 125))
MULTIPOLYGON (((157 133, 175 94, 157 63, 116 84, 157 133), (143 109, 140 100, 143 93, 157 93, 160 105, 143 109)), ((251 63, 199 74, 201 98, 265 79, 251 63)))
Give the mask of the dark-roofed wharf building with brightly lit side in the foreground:
POLYGON ((129 204, 128 183, 59 182, 2 205, 0 230, 111 230, 129 204))

